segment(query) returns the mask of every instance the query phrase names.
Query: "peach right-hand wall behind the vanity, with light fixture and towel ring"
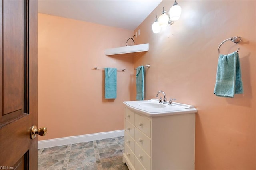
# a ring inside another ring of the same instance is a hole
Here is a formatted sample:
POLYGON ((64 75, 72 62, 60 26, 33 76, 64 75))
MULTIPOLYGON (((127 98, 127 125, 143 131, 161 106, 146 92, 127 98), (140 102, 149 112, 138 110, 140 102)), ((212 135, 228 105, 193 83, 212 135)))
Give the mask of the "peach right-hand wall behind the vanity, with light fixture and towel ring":
POLYGON ((168 98, 196 106, 196 170, 255 170, 256 1, 178 3, 182 15, 172 26, 152 33, 155 16, 163 6, 170 9, 173 4, 163 1, 135 30, 141 34, 136 44, 150 44, 149 51, 134 60, 134 67, 151 64, 146 68, 145 99, 164 90, 168 98), (220 52, 229 54, 241 48, 244 94, 216 97, 217 49, 232 36, 241 36, 242 42, 226 42, 220 52))

